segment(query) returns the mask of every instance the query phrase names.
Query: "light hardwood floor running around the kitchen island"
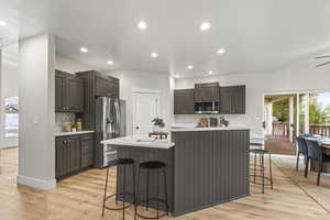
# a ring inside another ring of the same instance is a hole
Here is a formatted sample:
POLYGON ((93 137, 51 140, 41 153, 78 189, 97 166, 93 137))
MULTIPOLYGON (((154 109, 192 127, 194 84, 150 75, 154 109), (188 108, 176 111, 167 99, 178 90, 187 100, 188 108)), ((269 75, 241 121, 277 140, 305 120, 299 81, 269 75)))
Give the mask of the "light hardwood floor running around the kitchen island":
MULTIPOLYGON (((120 211, 107 211, 101 217, 106 170, 90 169, 59 182, 56 189, 36 190, 18 186, 18 150, 2 150, 0 174, 1 220, 100 220, 122 219, 120 211)), ((182 216, 182 220, 211 219, 330 219, 330 177, 316 187, 315 175, 304 179, 294 172, 294 160, 274 158, 274 190, 261 194, 251 186, 252 196, 232 202, 182 216)), ((116 169, 111 169, 110 193, 116 186, 116 169)), ((133 207, 127 219, 133 218, 133 207)), ((166 217, 163 219, 173 219, 166 217)))

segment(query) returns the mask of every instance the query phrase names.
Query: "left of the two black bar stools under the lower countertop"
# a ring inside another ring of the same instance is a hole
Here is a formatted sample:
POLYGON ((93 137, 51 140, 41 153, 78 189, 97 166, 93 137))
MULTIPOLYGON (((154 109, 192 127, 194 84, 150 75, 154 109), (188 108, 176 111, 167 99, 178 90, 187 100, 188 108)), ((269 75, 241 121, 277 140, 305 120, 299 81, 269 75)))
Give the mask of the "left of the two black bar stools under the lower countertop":
POLYGON ((106 187, 105 187, 105 197, 103 197, 103 207, 102 207, 102 216, 105 216, 105 209, 109 210, 122 210, 122 218, 125 219, 125 209, 132 206, 132 204, 128 204, 125 206, 125 198, 127 196, 133 197, 133 204, 135 204, 135 172, 134 172, 134 160, 132 158, 118 158, 112 162, 110 162, 107 166, 107 178, 106 178, 106 187), (133 183, 133 193, 127 191, 127 166, 131 166, 132 168, 132 183, 133 183), (108 178, 109 178, 109 168, 111 166, 117 166, 117 188, 116 194, 112 194, 110 196, 107 196, 107 189, 108 189, 108 178), (123 190, 122 193, 119 193, 119 167, 123 168, 123 190), (106 201, 112 197, 116 196, 116 204, 118 204, 119 197, 122 197, 122 207, 108 207, 106 206, 106 201))

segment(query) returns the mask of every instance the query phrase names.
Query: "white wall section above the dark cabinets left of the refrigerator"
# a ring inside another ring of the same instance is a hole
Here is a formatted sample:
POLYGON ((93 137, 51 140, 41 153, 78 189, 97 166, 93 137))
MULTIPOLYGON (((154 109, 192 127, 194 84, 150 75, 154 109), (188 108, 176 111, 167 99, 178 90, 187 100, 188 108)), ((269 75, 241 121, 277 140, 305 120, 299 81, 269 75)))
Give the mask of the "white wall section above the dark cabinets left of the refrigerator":
POLYGON ((90 66, 81 62, 77 62, 61 54, 56 54, 55 68, 70 74, 92 69, 90 66))

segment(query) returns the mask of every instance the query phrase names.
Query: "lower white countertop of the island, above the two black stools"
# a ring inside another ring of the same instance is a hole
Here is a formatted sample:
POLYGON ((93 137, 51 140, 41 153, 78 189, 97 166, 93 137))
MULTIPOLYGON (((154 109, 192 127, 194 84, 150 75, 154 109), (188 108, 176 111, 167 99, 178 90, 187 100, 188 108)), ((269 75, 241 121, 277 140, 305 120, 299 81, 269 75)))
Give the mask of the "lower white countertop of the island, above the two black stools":
POLYGON ((123 146, 139 146, 151 148, 170 148, 174 143, 170 142, 170 136, 167 139, 148 138, 147 135, 129 135, 118 139, 106 140, 102 144, 123 145, 123 146))

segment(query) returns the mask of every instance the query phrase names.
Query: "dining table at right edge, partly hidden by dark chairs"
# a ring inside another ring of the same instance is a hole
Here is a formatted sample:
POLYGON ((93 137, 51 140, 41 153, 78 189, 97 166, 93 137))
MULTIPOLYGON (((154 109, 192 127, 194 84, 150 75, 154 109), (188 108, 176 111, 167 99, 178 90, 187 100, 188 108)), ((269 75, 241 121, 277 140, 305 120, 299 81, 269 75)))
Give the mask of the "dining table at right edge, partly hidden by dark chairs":
MULTIPOLYGON (((330 138, 314 135, 314 136, 304 136, 305 140, 318 141, 319 145, 322 147, 324 154, 330 155, 330 138)), ((310 170, 318 172, 318 162, 317 160, 310 160, 310 170)), ((323 173, 330 173, 330 163, 323 164, 323 173)))

